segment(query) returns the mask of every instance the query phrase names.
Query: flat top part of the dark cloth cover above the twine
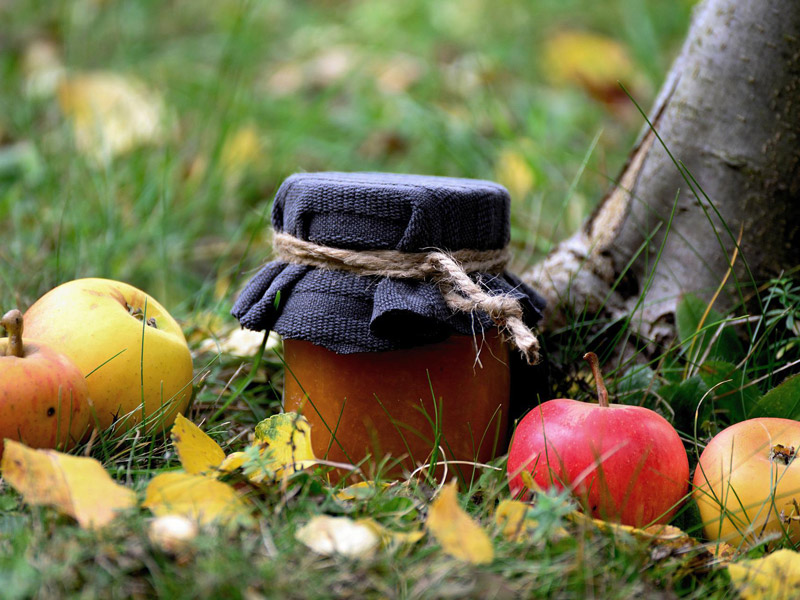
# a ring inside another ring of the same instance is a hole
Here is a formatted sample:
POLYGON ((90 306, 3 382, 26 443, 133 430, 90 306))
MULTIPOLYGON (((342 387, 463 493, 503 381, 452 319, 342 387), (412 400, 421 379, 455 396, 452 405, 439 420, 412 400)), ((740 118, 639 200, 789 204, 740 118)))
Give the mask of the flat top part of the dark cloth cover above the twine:
POLYGON ((420 252, 503 248, 510 198, 490 181, 391 173, 301 173, 278 190, 276 231, 324 246, 420 252))

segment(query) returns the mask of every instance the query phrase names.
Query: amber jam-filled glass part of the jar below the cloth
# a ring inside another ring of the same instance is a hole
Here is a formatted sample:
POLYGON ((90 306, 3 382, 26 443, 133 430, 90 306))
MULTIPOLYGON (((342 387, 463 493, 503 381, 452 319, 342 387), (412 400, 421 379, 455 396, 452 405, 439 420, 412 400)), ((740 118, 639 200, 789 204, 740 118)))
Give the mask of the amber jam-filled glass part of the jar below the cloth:
POLYGON ((432 457, 485 463, 506 450, 508 349, 496 332, 356 354, 286 339, 284 355, 284 408, 311 422, 318 457, 401 476, 432 457))

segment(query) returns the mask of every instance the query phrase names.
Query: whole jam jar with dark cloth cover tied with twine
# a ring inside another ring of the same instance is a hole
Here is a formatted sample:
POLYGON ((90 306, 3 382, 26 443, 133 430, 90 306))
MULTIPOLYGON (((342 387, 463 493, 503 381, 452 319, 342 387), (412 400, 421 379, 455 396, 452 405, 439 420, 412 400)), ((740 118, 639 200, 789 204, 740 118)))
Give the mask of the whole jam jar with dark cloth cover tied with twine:
POLYGON ((505 452, 516 351, 502 319, 457 307, 472 285, 514 299, 525 325, 541 317, 543 301, 495 260, 509 208, 505 188, 480 180, 306 173, 283 183, 277 257, 232 312, 283 336, 284 407, 311 422, 318 457, 399 476, 505 452), (414 266, 441 251, 467 287, 414 266))

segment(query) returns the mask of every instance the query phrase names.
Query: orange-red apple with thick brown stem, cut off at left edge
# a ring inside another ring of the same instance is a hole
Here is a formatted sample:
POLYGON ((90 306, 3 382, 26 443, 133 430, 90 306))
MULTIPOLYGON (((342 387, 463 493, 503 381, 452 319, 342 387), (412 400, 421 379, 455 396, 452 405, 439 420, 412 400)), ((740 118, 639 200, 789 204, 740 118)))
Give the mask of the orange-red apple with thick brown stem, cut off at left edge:
POLYGON ((7 312, 0 326, 0 457, 3 440, 32 448, 69 450, 89 427, 89 389, 66 356, 36 341, 22 340, 22 313, 7 312))

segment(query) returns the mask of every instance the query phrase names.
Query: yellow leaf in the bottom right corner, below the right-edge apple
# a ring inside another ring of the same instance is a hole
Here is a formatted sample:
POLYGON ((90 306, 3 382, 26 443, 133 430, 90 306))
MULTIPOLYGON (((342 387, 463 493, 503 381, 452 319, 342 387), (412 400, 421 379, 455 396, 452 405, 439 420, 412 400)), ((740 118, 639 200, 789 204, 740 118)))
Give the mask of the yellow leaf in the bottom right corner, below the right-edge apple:
POLYGON ((792 600, 800 589, 800 554, 778 550, 730 564, 728 573, 744 600, 792 600))

